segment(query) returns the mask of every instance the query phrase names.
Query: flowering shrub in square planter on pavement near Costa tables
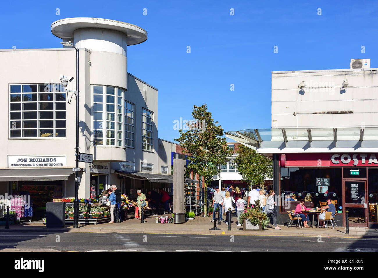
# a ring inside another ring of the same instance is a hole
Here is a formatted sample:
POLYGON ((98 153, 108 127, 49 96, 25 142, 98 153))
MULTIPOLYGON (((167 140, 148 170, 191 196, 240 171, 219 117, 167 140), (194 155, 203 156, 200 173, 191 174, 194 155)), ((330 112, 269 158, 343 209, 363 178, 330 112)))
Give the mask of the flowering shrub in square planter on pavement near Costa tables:
POLYGON ((239 223, 243 223, 243 231, 245 230, 259 230, 268 228, 270 223, 268 216, 261 208, 256 205, 247 207, 246 210, 239 216, 239 223))

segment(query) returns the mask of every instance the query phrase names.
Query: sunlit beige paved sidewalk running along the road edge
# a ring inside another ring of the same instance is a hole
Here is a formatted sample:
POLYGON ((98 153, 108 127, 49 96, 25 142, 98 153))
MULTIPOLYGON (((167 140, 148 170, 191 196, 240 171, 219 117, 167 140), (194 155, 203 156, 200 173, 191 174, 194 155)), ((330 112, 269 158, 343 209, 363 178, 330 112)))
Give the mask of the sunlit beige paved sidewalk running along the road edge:
MULTIPOLYGON (((172 216, 172 214, 169 214, 172 216)), ((53 233, 64 232, 90 232, 90 233, 163 233, 163 234, 193 234, 193 235, 259 235, 259 236, 314 236, 318 237, 346 237, 346 238, 378 238, 378 230, 373 228, 349 228, 349 234, 345 233, 345 227, 335 227, 335 229, 328 228, 297 228, 295 226, 288 228, 287 226, 280 226, 282 230, 275 230, 270 226, 264 231, 243 231, 242 226, 237 226, 234 222, 236 217, 232 217, 231 231, 227 230, 227 223, 222 222, 218 225, 220 231, 212 231, 210 228, 214 227, 214 223, 210 222, 211 217, 197 216, 193 220, 188 220, 184 224, 156 224, 156 216, 147 216, 146 223, 142 224, 140 220, 132 218, 122 221, 122 223, 102 223, 102 224, 87 224, 79 225, 79 228, 74 229, 72 225, 67 225, 65 228, 50 228, 47 229, 42 223, 22 223, 18 225, 10 225, 9 229, 4 229, 0 226, 0 232, 40 232, 47 231, 53 233)))

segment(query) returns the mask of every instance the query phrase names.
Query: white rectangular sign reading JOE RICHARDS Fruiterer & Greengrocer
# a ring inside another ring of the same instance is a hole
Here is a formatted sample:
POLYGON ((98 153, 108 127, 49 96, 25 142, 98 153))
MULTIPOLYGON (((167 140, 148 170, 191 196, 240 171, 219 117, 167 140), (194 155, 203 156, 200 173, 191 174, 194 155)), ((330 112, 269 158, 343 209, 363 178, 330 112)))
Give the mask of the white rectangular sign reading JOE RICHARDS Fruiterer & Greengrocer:
POLYGON ((8 168, 66 167, 65 155, 8 156, 8 168))

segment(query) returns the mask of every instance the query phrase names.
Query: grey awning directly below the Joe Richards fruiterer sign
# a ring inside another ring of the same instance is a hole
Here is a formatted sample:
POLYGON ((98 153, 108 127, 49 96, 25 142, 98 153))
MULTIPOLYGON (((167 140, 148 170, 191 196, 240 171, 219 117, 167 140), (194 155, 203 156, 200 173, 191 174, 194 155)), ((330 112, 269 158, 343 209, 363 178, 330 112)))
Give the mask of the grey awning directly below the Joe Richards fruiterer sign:
POLYGON ((67 180, 74 174, 72 168, 53 169, 0 169, 0 182, 22 180, 67 180))

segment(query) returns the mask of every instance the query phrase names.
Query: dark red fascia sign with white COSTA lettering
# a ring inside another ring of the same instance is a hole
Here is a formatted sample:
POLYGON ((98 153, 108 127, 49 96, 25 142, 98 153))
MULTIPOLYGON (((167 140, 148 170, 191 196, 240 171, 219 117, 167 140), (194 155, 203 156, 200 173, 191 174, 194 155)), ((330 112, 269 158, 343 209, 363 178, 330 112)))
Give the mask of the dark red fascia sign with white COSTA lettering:
POLYGON ((377 166, 378 154, 282 154, 281 167, 377 166))

